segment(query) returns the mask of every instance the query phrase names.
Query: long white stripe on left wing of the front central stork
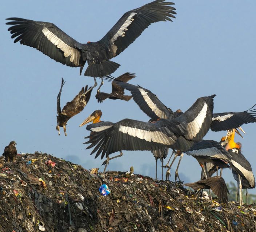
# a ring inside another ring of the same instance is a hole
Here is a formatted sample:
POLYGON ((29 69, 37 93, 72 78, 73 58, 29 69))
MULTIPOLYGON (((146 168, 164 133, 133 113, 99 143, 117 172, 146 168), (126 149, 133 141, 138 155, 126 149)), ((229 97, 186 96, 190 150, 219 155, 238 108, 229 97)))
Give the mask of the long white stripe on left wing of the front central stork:
POLYGON ((120 125, 119 132, 129 134, 130 136, 137 137, 148 142, 158 142, 164 145, 172 145, 175 143, 173 138, 168 137, 166 134, 160 131, 148 131, 120 125))

